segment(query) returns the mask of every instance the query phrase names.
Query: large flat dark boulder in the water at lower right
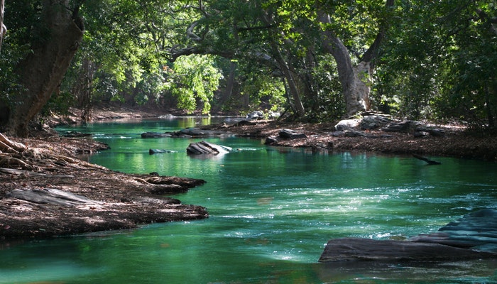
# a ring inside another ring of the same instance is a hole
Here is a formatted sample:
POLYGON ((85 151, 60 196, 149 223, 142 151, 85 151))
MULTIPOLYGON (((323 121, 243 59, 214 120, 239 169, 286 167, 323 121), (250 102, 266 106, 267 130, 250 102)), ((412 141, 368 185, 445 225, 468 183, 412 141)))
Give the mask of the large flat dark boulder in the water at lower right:
POLYGON ((405 241, 332 239, 320 261, 459 261, 497 258, 497 210, 481 209, 405 241))

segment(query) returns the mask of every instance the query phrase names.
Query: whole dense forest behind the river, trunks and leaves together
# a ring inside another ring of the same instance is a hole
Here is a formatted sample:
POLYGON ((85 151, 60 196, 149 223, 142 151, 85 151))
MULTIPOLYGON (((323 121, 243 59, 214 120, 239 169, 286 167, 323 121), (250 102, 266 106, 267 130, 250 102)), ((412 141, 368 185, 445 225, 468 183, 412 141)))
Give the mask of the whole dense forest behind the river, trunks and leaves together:
POLYGON ((120 102, 497 124, 494 0, 1 0, 0 131, 120 102))

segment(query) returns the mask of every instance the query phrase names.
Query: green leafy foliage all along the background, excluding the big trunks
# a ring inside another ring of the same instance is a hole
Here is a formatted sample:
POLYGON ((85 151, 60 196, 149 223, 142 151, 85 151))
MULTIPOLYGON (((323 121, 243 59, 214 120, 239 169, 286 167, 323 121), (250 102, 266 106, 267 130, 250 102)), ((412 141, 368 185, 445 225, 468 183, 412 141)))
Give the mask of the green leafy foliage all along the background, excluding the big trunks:
MULTIPOLYGON (((38 24, 41 2, 6 1, 4 104, 16 103, 22 89, 13 71, 18 62, 50 40, 38 24)), ((288 68, 307 119, 337 119, 345 109, 343 88, 334 59, 322 48, 321 29, 340 38, 356 63, 389 23, 381 60, 373 62, 373 106, 410 119, 455 117, 495 126, 496 8, 492 0, 395 1, 388 9, 376 0, 86 0, 80 9, 84 39, 62 97, 47 109, 91 91, 92 102, 130 104, 173 95, 178 107, 209 113, 214 94, 224 92, 226 62, 236 60, 231 102, 243 98, 251 109, 291 104, 295 97, 287 96, 282 80, 288 68), (317 21, 320 11, 331 23, 317 21), (91 64, 84 69, 83 62, 91 64)))

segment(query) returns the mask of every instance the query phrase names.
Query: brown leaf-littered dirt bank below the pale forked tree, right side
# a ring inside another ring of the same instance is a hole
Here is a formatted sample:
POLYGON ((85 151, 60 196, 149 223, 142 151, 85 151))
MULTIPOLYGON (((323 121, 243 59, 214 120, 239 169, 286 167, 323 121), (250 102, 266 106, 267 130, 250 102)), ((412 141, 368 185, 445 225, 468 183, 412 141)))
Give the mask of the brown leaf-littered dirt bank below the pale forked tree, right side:
POLYGON ((461 126, 438 125, 443 136, 415 138, 412 132, 365 131, 366 136, 334 136, 334 123, 300 124, 283 121, 251 121, 250 124, 215 126, 240 136, 278 136, 281 129, 305 133, 307 138, 278 141, 279 146, 307 147, 312 151, 372 151, 473 158, 497 162, 497 136, 467 131, 461 126))

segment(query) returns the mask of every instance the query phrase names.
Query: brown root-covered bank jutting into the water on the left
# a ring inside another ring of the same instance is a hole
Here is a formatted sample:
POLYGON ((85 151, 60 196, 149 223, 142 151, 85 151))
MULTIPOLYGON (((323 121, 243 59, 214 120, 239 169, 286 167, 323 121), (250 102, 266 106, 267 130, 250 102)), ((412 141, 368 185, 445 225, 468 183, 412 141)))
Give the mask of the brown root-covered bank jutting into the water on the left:
POLYGON ((46 238, 207 218, 165 195, 204 180, 129 175, 76 158, 107 146, 82 138, 0 137, 0 239, 46 238))

